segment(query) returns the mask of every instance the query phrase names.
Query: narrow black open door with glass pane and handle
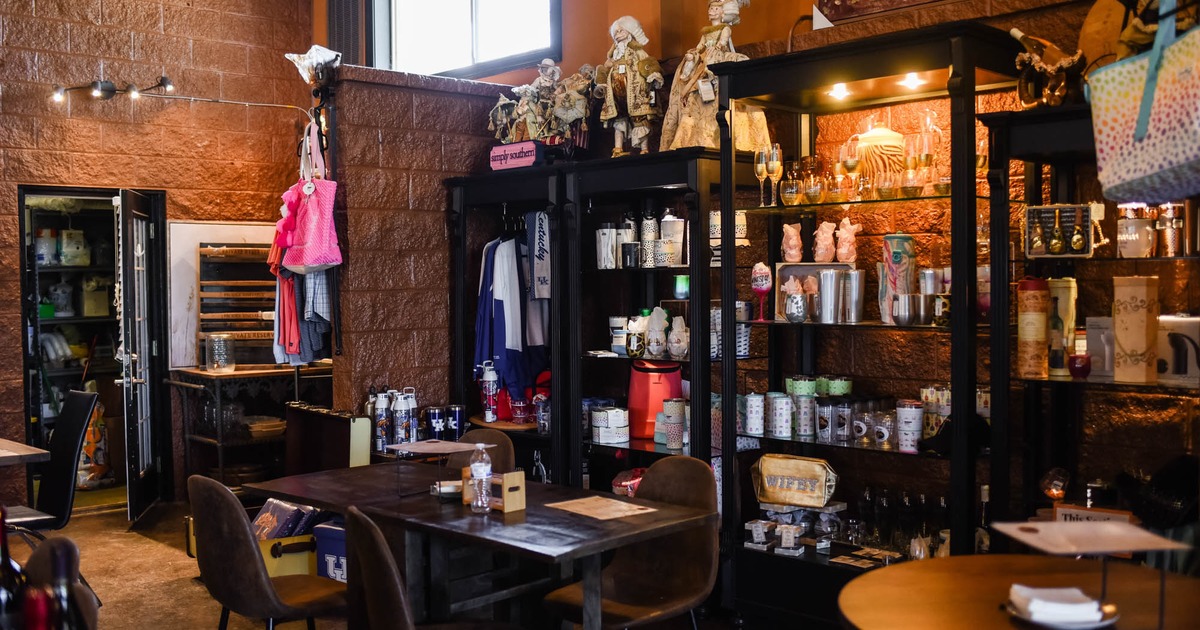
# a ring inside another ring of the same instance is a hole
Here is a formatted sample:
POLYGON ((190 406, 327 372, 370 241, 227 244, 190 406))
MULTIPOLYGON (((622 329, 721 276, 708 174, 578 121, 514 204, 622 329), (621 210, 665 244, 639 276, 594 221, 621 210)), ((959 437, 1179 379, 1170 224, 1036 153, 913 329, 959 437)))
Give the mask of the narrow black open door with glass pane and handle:
MULTIPOLYGON (((125 390, 125 466, 130 520, 162 498, 170 476, 166 373, 166 203, 161 192, 120 191, 116 205, 116 358, 125 390), (166 460, 166 468, 163 460, 166 460)), ((116 464, 116 462, 114 462, 116 464)))

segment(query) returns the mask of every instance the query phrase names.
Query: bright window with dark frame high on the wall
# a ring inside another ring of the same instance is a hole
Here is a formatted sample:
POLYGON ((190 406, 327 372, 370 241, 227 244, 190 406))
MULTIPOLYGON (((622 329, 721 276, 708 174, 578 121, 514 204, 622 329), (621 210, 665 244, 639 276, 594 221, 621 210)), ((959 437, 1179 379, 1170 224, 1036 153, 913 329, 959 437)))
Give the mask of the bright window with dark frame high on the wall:
POLYGON ((392 0, 391 66, 479 78, 562 56, 562 0, 392 0))

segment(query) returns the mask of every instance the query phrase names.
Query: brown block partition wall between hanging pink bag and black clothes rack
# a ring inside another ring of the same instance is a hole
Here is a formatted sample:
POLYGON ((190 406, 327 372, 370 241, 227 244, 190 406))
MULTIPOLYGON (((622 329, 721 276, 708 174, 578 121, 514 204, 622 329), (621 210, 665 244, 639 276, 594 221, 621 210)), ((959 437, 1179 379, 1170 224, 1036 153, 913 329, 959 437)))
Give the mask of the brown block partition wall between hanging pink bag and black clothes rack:
POLYGON ((370 385, 448 402, 449 197, 443 180, 487 168, 487 113, 505 86, 343 67, 335 86, 338 194, 349 251, 343 354, 334 404, 359 408, 370 385))

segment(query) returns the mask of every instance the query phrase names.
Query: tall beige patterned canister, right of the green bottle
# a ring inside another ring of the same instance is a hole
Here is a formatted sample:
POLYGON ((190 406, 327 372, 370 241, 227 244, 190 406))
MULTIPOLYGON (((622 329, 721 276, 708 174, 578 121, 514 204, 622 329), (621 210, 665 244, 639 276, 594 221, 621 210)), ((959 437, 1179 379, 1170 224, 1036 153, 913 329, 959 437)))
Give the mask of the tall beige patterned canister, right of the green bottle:
POLYGON ((1112 380, 1158 380, 1158 276, 1112 278, 1112 380))

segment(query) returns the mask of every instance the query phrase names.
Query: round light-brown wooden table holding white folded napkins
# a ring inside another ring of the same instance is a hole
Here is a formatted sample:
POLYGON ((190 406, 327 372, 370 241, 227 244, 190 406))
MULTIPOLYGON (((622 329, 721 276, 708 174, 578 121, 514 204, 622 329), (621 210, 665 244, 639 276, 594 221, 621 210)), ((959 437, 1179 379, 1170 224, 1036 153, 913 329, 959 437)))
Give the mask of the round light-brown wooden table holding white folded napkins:
MULTIPOLYGON (((850 628, 1032 628, 1003 610, 1015 582, 1100 596, 1100 562, 1055 556, 952 556, 884 566, 852 580, 838 607, 850 628)), ((1109 562, 1114 628, 1157 628, 1159 572, 1109 562)), ((1200 580, 1168 574, 1163 628, 1200 628, 1200 580)))

